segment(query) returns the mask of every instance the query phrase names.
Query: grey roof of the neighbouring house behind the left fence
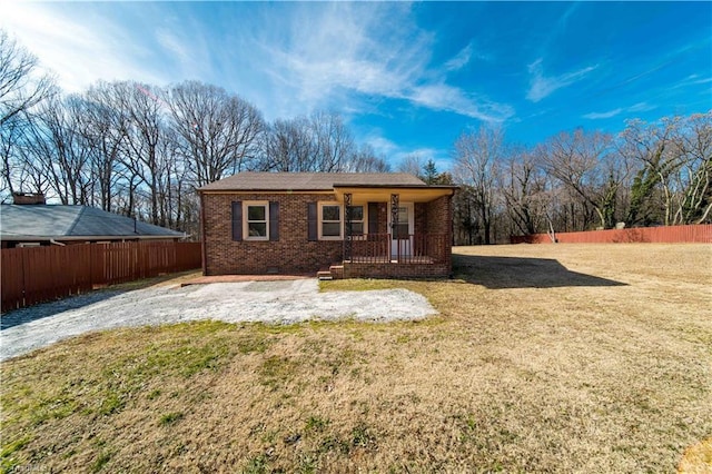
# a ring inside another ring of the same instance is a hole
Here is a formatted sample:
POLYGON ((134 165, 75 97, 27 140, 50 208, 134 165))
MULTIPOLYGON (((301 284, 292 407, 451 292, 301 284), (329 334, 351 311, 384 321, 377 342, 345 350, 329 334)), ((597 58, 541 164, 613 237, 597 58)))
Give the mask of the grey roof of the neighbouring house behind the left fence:
POLYGON ((0 206, 1 240, 180 238, 185 234, 89 206, 0 206), (136 229, 136 230, 135 230, 136 229))

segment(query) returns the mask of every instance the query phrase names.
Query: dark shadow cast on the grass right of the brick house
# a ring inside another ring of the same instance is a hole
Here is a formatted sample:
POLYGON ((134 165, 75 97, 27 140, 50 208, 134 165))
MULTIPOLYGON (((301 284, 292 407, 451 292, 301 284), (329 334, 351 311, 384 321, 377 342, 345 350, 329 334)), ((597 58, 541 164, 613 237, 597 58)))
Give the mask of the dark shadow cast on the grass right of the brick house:
POLYGON ((491 289, 626 286, 621 282, 571 271, 553 258, 453 255, 455 278, 491 289))

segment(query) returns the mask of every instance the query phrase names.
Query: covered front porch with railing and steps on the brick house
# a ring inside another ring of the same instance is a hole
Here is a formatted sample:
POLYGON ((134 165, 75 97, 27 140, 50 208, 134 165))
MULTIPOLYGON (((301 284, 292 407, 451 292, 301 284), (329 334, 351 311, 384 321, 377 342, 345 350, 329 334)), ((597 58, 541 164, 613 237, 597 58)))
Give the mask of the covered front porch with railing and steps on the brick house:
POLYGON ((449 275, 455 187, 334 189, 345 211, 343 259, 333 266, 334 277, 449 275))

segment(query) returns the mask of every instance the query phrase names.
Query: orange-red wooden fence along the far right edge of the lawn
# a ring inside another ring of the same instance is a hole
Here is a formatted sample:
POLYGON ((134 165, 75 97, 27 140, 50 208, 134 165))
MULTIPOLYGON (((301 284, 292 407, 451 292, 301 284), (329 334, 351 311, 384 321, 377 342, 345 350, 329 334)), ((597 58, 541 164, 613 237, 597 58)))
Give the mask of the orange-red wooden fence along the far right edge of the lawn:
MULTIPOLYGON (((562 244, 712 243, 712 224, 561 233, 556 234, 556 240, 562 244)), ((511 241, 512 244, 551 244, 552 239, 547 234, 534 234, 513 236, 511 241)))

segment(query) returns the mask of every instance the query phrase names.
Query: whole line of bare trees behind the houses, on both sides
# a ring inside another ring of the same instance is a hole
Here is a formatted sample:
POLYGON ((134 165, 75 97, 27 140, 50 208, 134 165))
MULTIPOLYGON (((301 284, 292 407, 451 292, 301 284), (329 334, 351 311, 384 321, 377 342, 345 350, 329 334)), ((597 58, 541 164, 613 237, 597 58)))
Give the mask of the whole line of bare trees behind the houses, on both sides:
MULTIPOLYGON (((457 184, 457 244, 510 235, 709 223, 712 111, 617 136, 576 129, 534 147, 481 127, 453 146, 453 168, 409 156, 398 170, 457 184)), ((43 192, 199 236, 195 189, 256 171, 389 171, 334 112, 269 122, 251 103, 198 81, 99 81, 63 93, 0 30, 2 199, 43 192)))

